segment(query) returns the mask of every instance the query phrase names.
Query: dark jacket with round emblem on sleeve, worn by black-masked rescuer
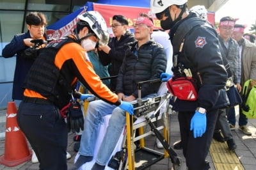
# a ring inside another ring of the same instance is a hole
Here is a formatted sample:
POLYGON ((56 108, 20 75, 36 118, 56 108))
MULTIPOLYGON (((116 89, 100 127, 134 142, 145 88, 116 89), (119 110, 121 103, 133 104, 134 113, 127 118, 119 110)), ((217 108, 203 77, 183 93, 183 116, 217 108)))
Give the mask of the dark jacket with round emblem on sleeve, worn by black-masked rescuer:
MULTIPOLYGON (((171 40, 175 40, 175 33, 186 29, 186 23, 191 22, 195 17, 193 13, 186 19, 178 22, 170 32, 171 40)), ((173 54, 178 54, 179 42, 173 42, 173 54)), ((198 84, 198 100, 188 102, 177 100, 173 105, 176 111, 195 111, 196 107, 204 107, 206 110, 220 108, 228 105, 225 98, 225 84, 227 82, 227 72, 223 66, 220 48, 218 45, 218 35, 216 31, 208 24, 196 26, 185 36, 182 52, 179 54, 178 63, 186 68, 190 68, 193 78, 198 84), (200 83, 200 78, 202 83, 200 83), (224 96, 224 97, 223 97, 224 96), (220 101, 221 100, 221 101, 220 101), (216 103, 221 105, 216 105, 216 103)), ((175 74, 175 73, 174 73, 175 74)))

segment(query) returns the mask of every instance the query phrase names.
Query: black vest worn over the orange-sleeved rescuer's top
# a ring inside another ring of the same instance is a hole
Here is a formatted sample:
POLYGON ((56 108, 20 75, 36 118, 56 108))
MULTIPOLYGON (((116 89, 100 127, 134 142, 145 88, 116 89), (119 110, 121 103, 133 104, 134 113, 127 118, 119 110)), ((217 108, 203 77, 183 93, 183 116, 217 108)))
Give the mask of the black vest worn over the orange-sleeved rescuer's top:
POLYGON ((23 88, 40 93, 60 109, 68 104, 74 88, 67 83, 60 70, 54 65, 54 59, 58 50, 70 42, 76 42, 76 40, 63 37, 50 42, 44 49, 40 49, 23 86, 23 88))

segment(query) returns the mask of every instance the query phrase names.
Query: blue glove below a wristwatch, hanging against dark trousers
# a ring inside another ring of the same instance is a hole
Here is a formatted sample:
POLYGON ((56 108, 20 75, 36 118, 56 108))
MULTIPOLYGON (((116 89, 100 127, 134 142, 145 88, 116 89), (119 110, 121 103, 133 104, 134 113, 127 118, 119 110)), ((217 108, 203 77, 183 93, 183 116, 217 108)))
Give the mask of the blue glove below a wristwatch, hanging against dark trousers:
POLYGON ((206 113, 195 111, 190 123, 190 130, 194 130, 194 137, 202 137, 206 130, 206 113))

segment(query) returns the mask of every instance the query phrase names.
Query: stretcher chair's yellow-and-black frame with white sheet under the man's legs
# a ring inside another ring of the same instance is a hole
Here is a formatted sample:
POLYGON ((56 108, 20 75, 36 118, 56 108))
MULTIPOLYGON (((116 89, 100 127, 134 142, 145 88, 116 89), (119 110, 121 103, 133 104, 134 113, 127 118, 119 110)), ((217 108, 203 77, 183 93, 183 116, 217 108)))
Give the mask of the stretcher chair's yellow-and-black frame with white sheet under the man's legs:
MULTIPOLYGON (((170 98, 172 95, 170 93, 164 93, 163 95, 147 98, 146 100, 141 100, 141 86, 144 83, 154 83, 159 82, 160 79, 152 81, 144 81, 138 83, 138 99, 132 102, 134 106, 134 115, 131 116, 126 113, 126 127, 123 130, 118 143, 112 153, 111 158, 109 158, 108 166, 105 170, 112 169, 132 169, 140 170, 145 169, 156 162, 159 162, 163 158, 170 157, 172 161, 172 166, 174 170, 180 169, 182 160, 177 156, 177 153, 170 147, 170 132, 169 122, 168 122, 168 112, 170 109, 170 98), (163 109, 164 108, 164 109, 163 109), (159 112, 163 112, 161 116, 157 116, 159 112), (163 120, 163 125, 156 127, 153 123, 156 120, 163 120), (150 132, 144 132, 144 127, 149 125, 150 132), (139 135, 135 135, 135 131, 138 129, 139 135), (163 134, 159 132, 163 131, 163 134), (155 134, 157 139, 163 144, 164 152, 161 153, 156 150, 152 150, 146 147, 145 137, 148 135, 155 134), (135 148, 134 142, 140 141, 139 147, 135 148)), ((102 142, 106 129, 108 127, 108 121, 111 115, 104 116, 102 124, 99 127, 99 134, 96 141, 96 147, 94 151, 94 157, 91 162, 87 162, 79 170, 91 169, 95 163, 95 158, 99 151, 99 146, 102 142)), ((77 153, 76 159, 79 157, 77 153)))

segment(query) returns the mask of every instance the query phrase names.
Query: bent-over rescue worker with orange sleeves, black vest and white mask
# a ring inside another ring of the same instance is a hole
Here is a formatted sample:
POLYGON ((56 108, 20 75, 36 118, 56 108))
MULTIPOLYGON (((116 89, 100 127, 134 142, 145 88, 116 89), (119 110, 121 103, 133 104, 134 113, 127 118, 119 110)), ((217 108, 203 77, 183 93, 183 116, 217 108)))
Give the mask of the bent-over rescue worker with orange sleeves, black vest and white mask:
MULTIPOLYGON (((24 82, 24 99, 17 121, 40 162, 40 169, 67 169, 67 127, 60 114, 72 94, 84 100, 92 95, 73 91, 79 80, 109 104, 133 114, 129 102, 121 102, 93 71, 86 51, 108 43, 106 22, 98 12, 78 16, 74 34, 54 40, 40 51, 24 82)), ((68 112, 68 126, 83 130, 83 113, 68 112), (80 114, 81 113, 81 114, 80 114)))

